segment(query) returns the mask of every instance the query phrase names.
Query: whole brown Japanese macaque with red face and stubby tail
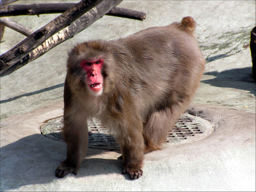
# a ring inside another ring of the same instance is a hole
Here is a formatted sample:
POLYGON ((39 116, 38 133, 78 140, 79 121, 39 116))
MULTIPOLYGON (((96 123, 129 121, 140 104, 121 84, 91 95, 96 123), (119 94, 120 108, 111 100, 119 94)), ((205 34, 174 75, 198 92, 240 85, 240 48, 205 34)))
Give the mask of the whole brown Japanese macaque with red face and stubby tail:
POLYGON ((67 61, 64 128, 67 158, 57 177, 76 175, 98 118, 121 147, 123 174, 142 176, 144 153, 159 150, 199 85, 205 60, 185 17, 115 41, 76 45, 67 61))

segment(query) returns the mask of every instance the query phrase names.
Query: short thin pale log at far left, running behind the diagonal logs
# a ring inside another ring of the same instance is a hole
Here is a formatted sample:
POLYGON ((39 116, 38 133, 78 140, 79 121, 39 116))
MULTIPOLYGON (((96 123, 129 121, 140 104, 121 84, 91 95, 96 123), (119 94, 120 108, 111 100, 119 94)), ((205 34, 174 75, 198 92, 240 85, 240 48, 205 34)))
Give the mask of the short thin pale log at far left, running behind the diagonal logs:
POLYGON ((7 17, 2 17, 0 23, 2 23, 4 26, 9 27, 15 31, 18 31, 19 33, 26 35, 29 37, 34 31, 30 30, 29 28, 7 18, 7 17))

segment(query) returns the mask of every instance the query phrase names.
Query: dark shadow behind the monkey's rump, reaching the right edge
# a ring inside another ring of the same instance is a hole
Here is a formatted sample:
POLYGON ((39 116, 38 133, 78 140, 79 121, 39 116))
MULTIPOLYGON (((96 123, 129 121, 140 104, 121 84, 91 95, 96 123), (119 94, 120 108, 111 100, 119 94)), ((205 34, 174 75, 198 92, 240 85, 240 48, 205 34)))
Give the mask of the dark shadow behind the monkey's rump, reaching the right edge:
POLYGON ((222 72, 209 72, 204 75, 214 75, 216 78, 202 80, 203 83, 216 87, 229 87, 250 91, 255 94, 255 80, 252 78, 252 67, 229 69, 222 72))

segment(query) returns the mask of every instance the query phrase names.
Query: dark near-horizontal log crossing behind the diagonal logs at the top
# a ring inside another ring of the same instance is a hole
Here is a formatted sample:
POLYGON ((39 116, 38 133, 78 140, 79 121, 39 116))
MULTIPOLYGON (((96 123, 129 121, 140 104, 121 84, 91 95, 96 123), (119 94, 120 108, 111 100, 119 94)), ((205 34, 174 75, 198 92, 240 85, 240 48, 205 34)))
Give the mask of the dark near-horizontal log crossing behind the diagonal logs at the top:
MULTIPOLYGON (((17 15, 40 15, 63 13, 68 8, 74 6, 75 3, 44 3, 31 5, 7 5, 0 8, 0 17, 17 16, 17 15)), ((118 16, 129 19, 142 20, 146 18, 146 14, 140 11, 129 10, 120 7, 114 7, 106 15, 118 16)))

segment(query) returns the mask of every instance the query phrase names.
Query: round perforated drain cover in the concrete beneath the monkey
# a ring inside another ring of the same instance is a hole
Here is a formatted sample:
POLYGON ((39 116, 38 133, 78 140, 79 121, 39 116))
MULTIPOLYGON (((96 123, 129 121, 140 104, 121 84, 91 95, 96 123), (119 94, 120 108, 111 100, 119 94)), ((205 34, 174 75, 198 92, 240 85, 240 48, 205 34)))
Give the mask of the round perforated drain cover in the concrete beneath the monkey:
MULTIPOLYGON (((63 117, 55 118, 41 125, 42 135, 57 141, 64 141, 62 137, 63 117)), ((205 138, 214 131, 214 124, 204 118, 185 113, 174 125, 166 137, 164 146, 194 142, 205 138)), ((88 121, 88 147, 105 150, 120 150, 114 135, 97 120, 88 121)))

